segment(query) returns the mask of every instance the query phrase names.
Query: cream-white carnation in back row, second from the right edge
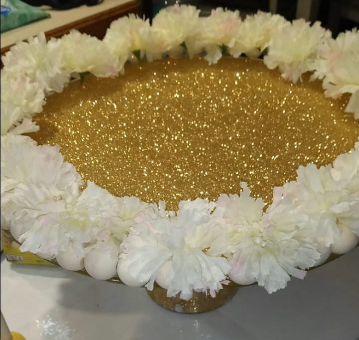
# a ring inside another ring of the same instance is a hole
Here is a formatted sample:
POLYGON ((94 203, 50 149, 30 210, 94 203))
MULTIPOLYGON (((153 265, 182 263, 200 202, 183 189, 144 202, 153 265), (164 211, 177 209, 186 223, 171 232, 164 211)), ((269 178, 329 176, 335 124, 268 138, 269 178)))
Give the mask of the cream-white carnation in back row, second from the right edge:
POLYGON ((330 32, 318 21, 311 26, 304 19, 294 20, 269 41, 264 63, 270 69, 279 67, 282 77, 295 83, 303 73, 313 70, 318 50, 329 37, 330 32))

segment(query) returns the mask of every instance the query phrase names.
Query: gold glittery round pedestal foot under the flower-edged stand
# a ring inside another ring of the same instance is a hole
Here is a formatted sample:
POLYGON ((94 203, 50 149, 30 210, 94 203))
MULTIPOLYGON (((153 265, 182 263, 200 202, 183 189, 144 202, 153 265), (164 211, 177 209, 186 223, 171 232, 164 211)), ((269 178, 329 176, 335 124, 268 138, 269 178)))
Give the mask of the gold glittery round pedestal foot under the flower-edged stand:
POLYGON ((147 291, 147 294, 160 306, 177 313, 193 314, 204 313, 219 308, 229 302, 237 293, 238 286, 230 283, 228 286, 223 286, 216 296, 212 298, 209 294, 193 292, 192 299, 186 301, 179 299, 179 294, 176 297, 167 297, 167 290, 160 286, 155 286, 152 291, 147 291))

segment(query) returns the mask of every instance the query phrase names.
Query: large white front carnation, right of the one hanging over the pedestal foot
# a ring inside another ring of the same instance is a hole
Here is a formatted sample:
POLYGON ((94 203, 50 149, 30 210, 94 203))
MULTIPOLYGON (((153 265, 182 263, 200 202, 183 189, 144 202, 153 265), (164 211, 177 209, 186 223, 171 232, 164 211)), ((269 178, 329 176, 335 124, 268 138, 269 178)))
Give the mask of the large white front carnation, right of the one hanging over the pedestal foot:
POLYGON ((223 247, 232 266, 230 279, 241 285, 257 281, 272 293, 286 287, 290 275, 303 278, 303 269, 313 266, 319 253, 300 236, 308 217, 281 199, 280 188, 263 215, 263 201, 250 197, 246 183, 241 186, 240 196, 221 195, 218 200, 214 214, 222 218, 222 233, 209 253, 223 247))

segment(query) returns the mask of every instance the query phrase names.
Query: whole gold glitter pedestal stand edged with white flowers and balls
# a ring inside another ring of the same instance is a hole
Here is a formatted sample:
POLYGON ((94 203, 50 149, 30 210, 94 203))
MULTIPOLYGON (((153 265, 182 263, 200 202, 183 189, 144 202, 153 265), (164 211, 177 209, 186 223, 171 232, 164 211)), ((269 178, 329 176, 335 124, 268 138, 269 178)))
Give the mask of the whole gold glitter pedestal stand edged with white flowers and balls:
POLYGON ((176 5, 2 62, 1 226, 21 250, 188 313, 357 246, 356 29, 176 5))

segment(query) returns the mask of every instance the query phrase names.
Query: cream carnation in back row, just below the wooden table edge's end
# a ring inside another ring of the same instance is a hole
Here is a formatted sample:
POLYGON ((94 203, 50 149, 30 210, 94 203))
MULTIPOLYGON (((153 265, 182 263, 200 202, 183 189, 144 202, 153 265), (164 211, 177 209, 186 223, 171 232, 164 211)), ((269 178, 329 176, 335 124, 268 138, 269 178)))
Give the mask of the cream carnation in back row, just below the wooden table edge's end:
POLYGON ((140 51, 140 57, 144 57, 149 30, 148 19, 142 20, 136 14, 129 14, 112 21, 103 41, 119 57, 123 66, 135 51, 140 51))

